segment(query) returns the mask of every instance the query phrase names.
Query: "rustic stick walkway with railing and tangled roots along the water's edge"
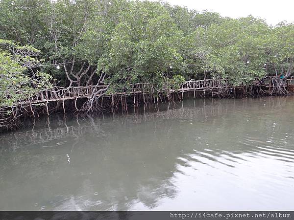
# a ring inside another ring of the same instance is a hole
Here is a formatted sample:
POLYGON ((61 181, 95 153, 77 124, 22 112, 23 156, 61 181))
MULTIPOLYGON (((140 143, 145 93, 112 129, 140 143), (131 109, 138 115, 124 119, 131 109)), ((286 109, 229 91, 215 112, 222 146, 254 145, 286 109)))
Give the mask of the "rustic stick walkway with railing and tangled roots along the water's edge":
POLYGON ((87 87, 53 87, 41 91, 27 100, 20 100, 11 107, 0 109, 0 131, 13 130, 21 126, 21 118, 39 118, 42 114, 54 112, 128 112, 142 104, 175 102, 184 98, 238 97, 288 95, 293 92, 292 79, 270 78, 254 81, 248 86, 233 86, 226 79, 185 81, 178 89, 152 88, 149 84, 135 84, 128 91, 108 93, 109 85, 103 85, 101 75, 96 85, 87 87))

